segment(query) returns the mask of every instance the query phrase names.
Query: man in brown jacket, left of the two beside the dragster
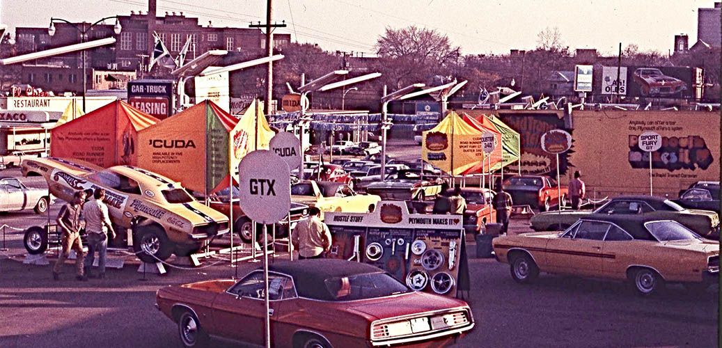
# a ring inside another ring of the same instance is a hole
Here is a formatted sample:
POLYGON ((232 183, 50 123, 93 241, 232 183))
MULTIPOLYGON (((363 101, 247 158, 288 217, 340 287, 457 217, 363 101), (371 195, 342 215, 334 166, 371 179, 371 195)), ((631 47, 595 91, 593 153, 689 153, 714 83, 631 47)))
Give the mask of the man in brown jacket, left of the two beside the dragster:
POLYGON ((70 250, 74 250, 77 258, 75 259, 75 269, 78 279, 82 282, 87 282, 88 278, 83 273, 83 243, 80 240, 80 214, 83 209, 83 202, 85 201, 84 191, 75 191, 73 193, 73 200, 61 207, 56 222, 63 230, 61 235, 61 245, 63 250, 58 256, 53 266, 53 280, 59 279, 59 274, 65 264, 65 259, 70 254, 70 250))

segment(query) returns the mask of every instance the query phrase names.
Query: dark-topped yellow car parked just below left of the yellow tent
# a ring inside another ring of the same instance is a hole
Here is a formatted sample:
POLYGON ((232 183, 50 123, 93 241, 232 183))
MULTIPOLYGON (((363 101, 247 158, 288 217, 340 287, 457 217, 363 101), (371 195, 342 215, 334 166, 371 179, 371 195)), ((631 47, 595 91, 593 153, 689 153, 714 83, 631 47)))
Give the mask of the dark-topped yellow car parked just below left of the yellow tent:
POLYGON ((441 193, 440 178, 422 179, 415 170, 398 170, 386 175, 383 181, 376 181, 366 186, 366 192, 380 196, 382 199, 398 199, 401 201, 425 201, 441 193))

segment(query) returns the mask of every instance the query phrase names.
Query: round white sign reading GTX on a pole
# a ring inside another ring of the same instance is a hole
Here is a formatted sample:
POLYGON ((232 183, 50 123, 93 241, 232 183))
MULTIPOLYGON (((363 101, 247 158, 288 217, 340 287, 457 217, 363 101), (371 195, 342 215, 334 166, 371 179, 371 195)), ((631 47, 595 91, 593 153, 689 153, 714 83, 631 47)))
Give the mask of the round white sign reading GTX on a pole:
POLYGON ((238 165, 240 209, 253 221, 274 224, 291 209, 291 176, 288 165, 269 150, 256 150, 238 165))

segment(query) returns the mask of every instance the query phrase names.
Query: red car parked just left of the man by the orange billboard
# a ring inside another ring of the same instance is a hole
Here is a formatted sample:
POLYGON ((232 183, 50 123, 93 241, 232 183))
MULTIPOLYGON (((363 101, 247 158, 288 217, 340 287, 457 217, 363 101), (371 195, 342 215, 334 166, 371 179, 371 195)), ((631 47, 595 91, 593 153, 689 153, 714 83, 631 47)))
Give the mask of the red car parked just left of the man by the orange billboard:
POLYGON ((547 175, 513 175, 503 181, 504 191, 511 195, 515 206, 529 205, 542 212, 552 204, 559 204, 561 191, 562 206, 567 205, 568 188, 557 190, 557 182, 547 175))

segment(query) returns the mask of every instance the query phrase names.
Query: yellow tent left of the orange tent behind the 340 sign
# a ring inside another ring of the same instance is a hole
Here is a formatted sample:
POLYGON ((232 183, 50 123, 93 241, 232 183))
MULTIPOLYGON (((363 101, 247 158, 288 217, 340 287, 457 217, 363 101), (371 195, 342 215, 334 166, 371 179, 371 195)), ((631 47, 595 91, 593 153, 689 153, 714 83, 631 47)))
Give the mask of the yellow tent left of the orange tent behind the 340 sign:
POLYGON ((425 131, 422 142, 423 159, 451 175, 460 175, 484 160, 482 132, 453 111, 425 131))

